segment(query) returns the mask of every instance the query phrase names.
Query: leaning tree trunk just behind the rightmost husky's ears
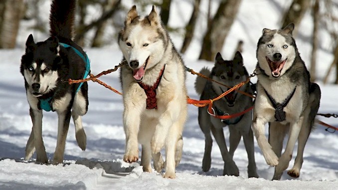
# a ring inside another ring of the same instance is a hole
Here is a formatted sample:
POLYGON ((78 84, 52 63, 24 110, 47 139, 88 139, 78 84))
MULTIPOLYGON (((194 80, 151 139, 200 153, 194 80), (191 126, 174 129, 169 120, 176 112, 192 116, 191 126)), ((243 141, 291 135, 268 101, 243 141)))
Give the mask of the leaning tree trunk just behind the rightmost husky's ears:
POLYGON ((282 27, 289 23, 295 24, 293 35, 297 35, 299 23, 302 21, 305 12, 311 7, 312 0, 293 0, 288 11, 284 13, 282 27))

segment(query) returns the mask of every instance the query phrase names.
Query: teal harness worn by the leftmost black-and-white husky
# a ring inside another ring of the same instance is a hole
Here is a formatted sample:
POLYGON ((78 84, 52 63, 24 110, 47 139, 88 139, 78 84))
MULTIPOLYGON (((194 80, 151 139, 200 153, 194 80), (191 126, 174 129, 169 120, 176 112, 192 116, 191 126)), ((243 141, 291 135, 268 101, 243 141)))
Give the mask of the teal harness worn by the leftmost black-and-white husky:
MULTIPOLYGON (((85 70, 85 73, 83 75, 83 79, 87 78, 87 76, 88 76, 88 74, 90 72, 90 61, 89 61, 89 58, 88 58, 87 54, 84 53, 84 55, 85 55, 84 56, 78 49, 76 49, 75 47, 70 46, 68 44, 65 44, 65 43, 59 43, 59 45, 62 45, 65 48, 71 47, 75 51, 75 53, 77 55, 79 55, 86 62, 86 70, 85 70)), ((83 82, 81 82, 80 85, 79 85, 79 87, 77 87, 77 89, 75 91, 75 94, 80 90, 82 84, 83 84, 83 82)), ((53 98, 53 96, 51 96, 49 98, 46 98, 46 99, 40 99, 40 109, 43 109, 46 112, 54 111, 53 110, 53 106, 52 106, 52 101, 51 101, 52 98, 53 98)))

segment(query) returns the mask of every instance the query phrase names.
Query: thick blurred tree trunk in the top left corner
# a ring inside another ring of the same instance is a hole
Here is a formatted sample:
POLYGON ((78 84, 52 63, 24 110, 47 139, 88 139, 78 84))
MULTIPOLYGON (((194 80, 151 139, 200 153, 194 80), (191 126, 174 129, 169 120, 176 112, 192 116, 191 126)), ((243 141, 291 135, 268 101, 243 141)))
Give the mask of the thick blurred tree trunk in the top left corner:
POLYGON ((14 48, 24 3, 23 0, 2 0, 1 6, 0 48, 14 48))

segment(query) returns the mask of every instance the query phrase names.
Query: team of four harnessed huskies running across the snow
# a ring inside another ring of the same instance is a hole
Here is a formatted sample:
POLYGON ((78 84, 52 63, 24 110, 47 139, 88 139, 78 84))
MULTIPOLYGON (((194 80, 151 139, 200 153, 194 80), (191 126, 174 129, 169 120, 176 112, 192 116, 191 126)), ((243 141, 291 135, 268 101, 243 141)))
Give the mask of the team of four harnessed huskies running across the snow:
MULTIPOLYGON (((76 0, 53 0, 49 15, 50 37, 34 42, 30 34, 26 41, 20 72, 24 77, 33 124, 25 150, 26 160, 36 151, 36 162, 48 163, 42 140, 42 110, 55 111, 58 115, 57 145, 52 164, 63 162, 71 117, 76 141, 82 150, 86 149, 81 116, 88 110, 88 85, 86 82, 71 85, 67 82, 69 78, 86 78, 90 73, 88 56, 72 41, 75 7, 76 0)), ((283 29, 264 28, 256 51, 257 84, 247 83, 212 106, 214 115, 219 116, 243 112, 252 106, 253 111, 221 120, 210 115, 206 107, 198 108, 198 123, 205 136, 204 172, 211 166, 212 134, 224 161, 223 175, 239 176, 233 154, 243 137, 248 155, 248 177, 258 178, 255 136, 266 163, 275 167, 273 180, 280 180, 288 168, 298 140, 297 157, 288 174, 299 177, 305 144, 319 109, 321 90, 316 83, 310 82, 310 74, 292 36, 293 29, 293 23, 283 29), (257 91, 255 101, 245 95, 254 91, 257 91), (269 125, 268 139, 266 124, 269 125), (223 134, 225 126, 230 132, 229 149, 223 134), (282 153, 287 134, 287 145, 282 153)), ((128 63, 120 69, 126 135, 123 160, 136 162, 141 159, 145 172, 152 172, 153 160, 155 171, 165 170, 164 178, 174 179, 175 168, 182 156, 182 131, 187 117, 183 60, 155 6, 144 17, 138 14, 135 5, 128 11, 118 44, 123 53, 122 61, 128 63), (141 158, 139 143, 142 145, 141 158), (161 155, 162 149, 165 149, 165 159, 161 155)), ((216 98, 249 76, 240 52, 236 52, 232 60, 224 60, 217 53, 212 69, 203 68, 200 73, 218 82, 196 78, 195 89, 201 100, 216 98)))

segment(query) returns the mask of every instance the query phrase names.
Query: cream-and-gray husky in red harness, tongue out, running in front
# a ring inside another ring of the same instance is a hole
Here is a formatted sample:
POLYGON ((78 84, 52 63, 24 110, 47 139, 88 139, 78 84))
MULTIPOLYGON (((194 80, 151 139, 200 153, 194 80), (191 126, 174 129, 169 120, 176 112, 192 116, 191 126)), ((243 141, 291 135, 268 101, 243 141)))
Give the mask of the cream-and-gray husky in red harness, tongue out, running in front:
POLYGON ((182 130, 187 117, 185 68, 153 6, 140 17, 134 5, 120 31, 123 61, 120 72, 123 89, 123 125, 126 134, 125 162, 139 159, 145 172, 154 169, 164 178, 175 178, 175 167, 182 155, 182 130), (160 151, 165 148, 166 162, 160 151))

